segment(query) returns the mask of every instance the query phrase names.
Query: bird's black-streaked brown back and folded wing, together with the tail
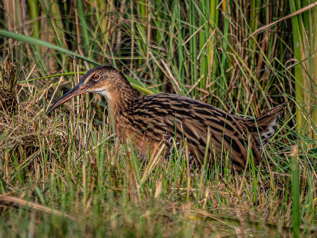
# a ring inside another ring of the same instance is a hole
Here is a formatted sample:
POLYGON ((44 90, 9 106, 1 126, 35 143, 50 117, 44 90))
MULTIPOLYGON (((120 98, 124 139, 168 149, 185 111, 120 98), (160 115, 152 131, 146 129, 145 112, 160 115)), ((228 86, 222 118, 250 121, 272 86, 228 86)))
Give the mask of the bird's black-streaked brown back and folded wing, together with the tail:
MULTIPOLYGON (((260 135, 261 130, 268 126, 264 126, 263 122, 271 123, 270 128, 273 128, 274 134, 277 119, 284 107, 285 105, 280 107, 278 115, 276 112, 268 112, 269 115, 264 114, 259 120, 256 119, 262 126, 259 128, 260 135)), ((185 96, 162 93, 140 98, 131 108, 130 115, 135 129, 133 134, 138 141, 148 139, 152 147, 153 144, 164 141, 169 148, 173 139, 182 144, 186 138, 189 152, 198 162, 198 166, 204 161, 207 145, 207 158, 211 163, 215 162, 216 155, 222 158, 223 163, 226 157, 229 157, 231 165, 237 170, 243 169, 248 158, 248 148, 255 163, 258 163, 262 156, 259 132, 254 119, 237 117, 185 96)), ((271 132, 263 136, 264 148, 273 135, 271 132)))

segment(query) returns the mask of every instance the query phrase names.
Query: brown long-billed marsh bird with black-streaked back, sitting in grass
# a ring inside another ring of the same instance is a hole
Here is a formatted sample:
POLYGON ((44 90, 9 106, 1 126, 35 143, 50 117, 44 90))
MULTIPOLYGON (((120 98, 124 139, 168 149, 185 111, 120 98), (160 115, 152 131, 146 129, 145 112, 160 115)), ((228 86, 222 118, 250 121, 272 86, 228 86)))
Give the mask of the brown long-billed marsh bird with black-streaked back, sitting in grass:
POLYGON ((139 158, 154 156, 158 148, 163 148, 163 156, 171 156, 173 148, 184 148, 186 142, 187 153, 197 169, 202 168, 206 158, 208 168, 217 159, 220 166, 230 159, 230 167, 241 171, 250 154, 258 164, 288 104, 258 117, 244 118, 187 96, 158 93, 139 97, 120 71, 100 65, 88 70, 46 113, 87 92, 107 99, 109 124, 116 137, 135 146, 139 158))

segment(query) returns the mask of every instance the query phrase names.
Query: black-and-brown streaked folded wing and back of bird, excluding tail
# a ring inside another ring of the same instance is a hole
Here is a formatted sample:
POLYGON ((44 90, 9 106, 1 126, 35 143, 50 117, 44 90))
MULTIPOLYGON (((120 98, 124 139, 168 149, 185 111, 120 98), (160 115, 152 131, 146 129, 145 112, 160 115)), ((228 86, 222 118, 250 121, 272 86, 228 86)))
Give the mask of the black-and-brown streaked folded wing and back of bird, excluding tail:
MULTIPOLYGON (((132 113, 135 117, 142 118, 142 127, 147 128, 146 136, 149 138, 160 136, 167 141, 175 137, 173 132, 176 128, 178 140, 182 140, 183 135, 188 139, 189 150, 200 163, 203 162, 209 127, 211 145, 208 156, 213 157, 212 161, 216 156, 213 155, 215 147, 217 156, 221 156, 224 152, 223 148, 230 150, 231 160, 234 161, 237 169, 242 169, 245 164, 247 129, 241 123, 235 122, 235 116, 221 109, 184 96, 157 94, 139 99, 132 113), (157 115, 158 109, 159 115, 157 115), (151 115, 151 112, 155 115, 151 115)), ((142 129, 144 128, 139 128, 142 129)), ((256 143, 253 137, 250 141, 251 145, 256 143)), ((260 153, 255 151, 254 156, 257 162, 260 153)))

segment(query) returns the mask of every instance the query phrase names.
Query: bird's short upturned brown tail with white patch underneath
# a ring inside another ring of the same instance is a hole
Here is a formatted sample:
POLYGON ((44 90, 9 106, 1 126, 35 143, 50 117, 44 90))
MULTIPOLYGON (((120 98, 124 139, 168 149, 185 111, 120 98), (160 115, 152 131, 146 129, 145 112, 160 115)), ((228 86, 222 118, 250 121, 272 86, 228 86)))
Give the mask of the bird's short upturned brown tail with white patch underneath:
POLYGON ((261 156, 263 155, 263 149, 266 149, 268 142, 275 134, 277 122, 287 104, 288 102, 285 102, 262 114, 261 116, 256 117, 255 120, 247 119, 247 124, 250 123, 248 126, 249 133, 252 134, 252 136, 257 140, 256 147, 259 149, 261 156), (255 123, 256 125, 254 125, 255 123))

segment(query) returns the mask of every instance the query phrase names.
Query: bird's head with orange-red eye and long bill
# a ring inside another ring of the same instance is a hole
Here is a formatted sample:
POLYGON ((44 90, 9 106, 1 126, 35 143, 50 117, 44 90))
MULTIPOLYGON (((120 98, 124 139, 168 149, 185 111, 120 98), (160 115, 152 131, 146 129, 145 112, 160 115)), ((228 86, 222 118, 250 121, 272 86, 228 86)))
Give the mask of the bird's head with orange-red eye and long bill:
POLYGON ((107 100, 111 100, 125 87, 131 88, 128 81, 118 70, 106 65, 97 66, 88 70, 81 81, 58 99, 46 113, 50 113, 73 97, 87 92, 99 93, 105 96, 107 100))

